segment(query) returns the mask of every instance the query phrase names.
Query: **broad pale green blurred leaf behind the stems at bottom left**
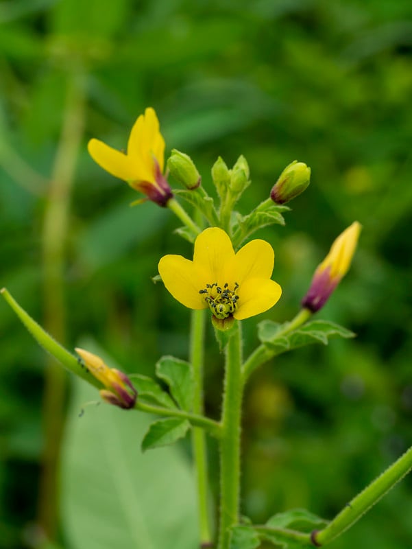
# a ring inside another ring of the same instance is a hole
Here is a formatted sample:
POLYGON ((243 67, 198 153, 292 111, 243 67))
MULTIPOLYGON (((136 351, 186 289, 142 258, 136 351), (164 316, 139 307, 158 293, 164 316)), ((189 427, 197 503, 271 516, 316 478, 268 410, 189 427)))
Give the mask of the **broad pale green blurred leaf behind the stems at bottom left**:
POLYGON ((159 549, 171 540, 179 549, 197 547, 195 482, 180 448, 142 454, 147 414, 108 404, 84 408, 95 390, 81 381, 74 389, 62 446, 66 547, 159 549))

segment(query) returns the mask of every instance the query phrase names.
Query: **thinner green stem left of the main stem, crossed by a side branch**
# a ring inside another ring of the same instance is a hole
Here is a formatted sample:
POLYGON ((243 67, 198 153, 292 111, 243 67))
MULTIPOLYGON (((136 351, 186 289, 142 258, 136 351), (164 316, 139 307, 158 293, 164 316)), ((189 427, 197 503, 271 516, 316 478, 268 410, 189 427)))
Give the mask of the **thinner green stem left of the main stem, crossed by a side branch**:
MULTIPOLYGON (((205 311, 191 312, 190 361, 195 390, 193 393, 193 413, 204 413, 203 398, 203 365, 204 365, 204 328, 205 311)), ((212 541, 210 507, 208 505, 208 463, 206 436, 204 430, 194 428, 192 431, 192 450, 195 462, 197 482, 197 511, 199 513, 199 533, 201 545, 212 541)))

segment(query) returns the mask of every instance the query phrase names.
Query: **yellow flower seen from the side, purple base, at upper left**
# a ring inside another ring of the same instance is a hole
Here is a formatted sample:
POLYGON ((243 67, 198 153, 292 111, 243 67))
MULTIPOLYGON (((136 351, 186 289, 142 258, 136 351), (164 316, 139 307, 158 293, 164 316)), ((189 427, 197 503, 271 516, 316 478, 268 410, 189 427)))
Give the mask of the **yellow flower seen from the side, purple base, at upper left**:
POLYGON ((159 121, 152 107, 140 115, 128 141, 124 154, 109 147, 99 139, 90 139, 88 152, 99 166, 114 177, 128 182, 160 206, 165 206, 173 194, 165 176, 165 140, 159 129, 159 121))

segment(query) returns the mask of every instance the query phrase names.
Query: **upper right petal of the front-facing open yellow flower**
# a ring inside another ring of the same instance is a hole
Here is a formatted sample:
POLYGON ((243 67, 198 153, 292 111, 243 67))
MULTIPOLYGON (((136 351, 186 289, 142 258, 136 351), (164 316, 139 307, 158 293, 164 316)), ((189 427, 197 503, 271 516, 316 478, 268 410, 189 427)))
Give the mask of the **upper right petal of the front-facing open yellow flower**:
POLYGON ((269 242, 252 240, 237 252, 226 276, 239 285, 251 278, 269 279, 274 270, 274 259, 274 250, 269 242))

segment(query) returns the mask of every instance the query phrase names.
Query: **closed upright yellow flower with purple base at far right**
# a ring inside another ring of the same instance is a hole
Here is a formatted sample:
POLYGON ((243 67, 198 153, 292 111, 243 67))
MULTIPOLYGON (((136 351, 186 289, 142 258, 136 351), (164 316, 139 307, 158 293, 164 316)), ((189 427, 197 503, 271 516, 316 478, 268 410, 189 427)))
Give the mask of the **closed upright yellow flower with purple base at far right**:
POLYGON ((324 306, 330 294, 350 268, 362 226, 355 221, 333 242, 330 252, 317 267, 302 306, 312 312, 324 306))

